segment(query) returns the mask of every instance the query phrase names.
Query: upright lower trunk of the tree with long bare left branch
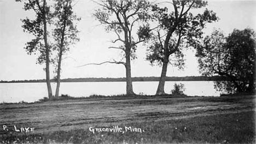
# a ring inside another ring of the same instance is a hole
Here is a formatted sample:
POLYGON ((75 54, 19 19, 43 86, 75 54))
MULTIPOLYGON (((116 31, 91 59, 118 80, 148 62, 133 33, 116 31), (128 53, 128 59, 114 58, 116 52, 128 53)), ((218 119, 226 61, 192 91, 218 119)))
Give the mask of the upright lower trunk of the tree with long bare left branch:
POLYGON ((131 58, 130 52, 126 52, 126 95, 134 95, 131 79, 131 58))

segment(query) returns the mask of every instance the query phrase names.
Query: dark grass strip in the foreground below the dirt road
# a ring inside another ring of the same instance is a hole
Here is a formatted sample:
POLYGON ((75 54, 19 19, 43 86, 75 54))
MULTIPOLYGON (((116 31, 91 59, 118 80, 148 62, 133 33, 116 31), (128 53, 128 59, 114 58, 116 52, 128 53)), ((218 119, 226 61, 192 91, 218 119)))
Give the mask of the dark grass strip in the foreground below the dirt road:
POLYGON ((255 143, 255 111, 118 126, 141 128, 144 132, 93 134, 89 129, 42 134, 9 132, 0 135, 0 143, 255 143))

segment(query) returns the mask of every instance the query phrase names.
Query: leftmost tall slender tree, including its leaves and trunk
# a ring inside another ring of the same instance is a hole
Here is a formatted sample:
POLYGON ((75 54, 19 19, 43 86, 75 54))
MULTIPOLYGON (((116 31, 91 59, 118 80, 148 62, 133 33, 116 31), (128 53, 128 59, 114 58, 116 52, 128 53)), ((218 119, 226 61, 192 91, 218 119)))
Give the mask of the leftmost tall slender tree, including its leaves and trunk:
MULTIPOLYGON (((22 0, 16 0, 21 2, 22 0)), ((50 84, 50 46, 48 43, 48 24, 51 19, 50 7, 48 7, 46 0, 30 0, 24 2, 25 10, 33 10, 36 12, 36 19, 31 20, 26 18, 22 20, 24 25, 24 32, 31 33, 35 36, 30 42, 26 43, 26 51, 28 54, 39 53, 37 59, 38 64, 43 64, 45 62, 45 74, 46 74, 46 84, 48 89, 48 97, 52 98, 53 92, 51 90, 50 84)))

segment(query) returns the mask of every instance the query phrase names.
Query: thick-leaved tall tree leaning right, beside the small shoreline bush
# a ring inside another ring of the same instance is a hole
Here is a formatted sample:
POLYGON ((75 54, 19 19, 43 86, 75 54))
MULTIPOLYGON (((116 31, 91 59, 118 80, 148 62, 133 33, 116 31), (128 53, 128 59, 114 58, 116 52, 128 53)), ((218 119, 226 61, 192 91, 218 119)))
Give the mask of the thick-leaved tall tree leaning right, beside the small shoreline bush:
POLYGON ((165 78, 167 66, 171 63, 170 55, 174 54, 178 60, 174 60, 174 65, 182 68, 184 65, 182 48, 196 47, 199 39, 202 38, 202 29, 206 23, 216 21, 216 14, 208 9, 202 14, 194 15, 192 9, 200 9, 207 5, 205 1, 172 1, 172 12, 167 8, 160 8, 154 5, 153 11, 158 17, 160 29, 156 30, 153 45, 149 46, 147 60, 152 64, 155 62, 162 65, 161 77, 159 80, 156 95, 165 93, 165 78), (163 31, 163 32, 161 32, 163 31), (184 45, 183 45, 184 44, 184 45))

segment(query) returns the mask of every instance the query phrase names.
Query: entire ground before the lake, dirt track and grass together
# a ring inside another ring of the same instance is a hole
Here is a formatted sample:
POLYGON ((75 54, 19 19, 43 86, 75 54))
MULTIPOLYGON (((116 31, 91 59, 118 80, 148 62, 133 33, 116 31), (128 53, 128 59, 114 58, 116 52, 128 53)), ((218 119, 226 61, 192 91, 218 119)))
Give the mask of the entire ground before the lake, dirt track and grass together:
POLYGON ((255 143, 255 97, 69 99, 1 104, 2 143, 255 143), (34 127, 14 132, 13 126, 34 127), (89 127, 144 132, 92 133, 89 127))

